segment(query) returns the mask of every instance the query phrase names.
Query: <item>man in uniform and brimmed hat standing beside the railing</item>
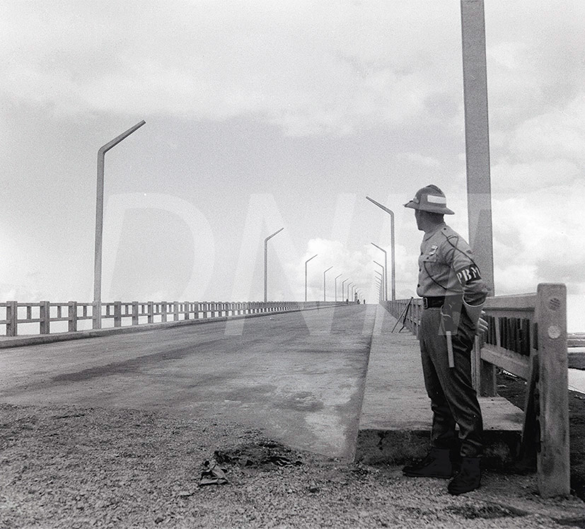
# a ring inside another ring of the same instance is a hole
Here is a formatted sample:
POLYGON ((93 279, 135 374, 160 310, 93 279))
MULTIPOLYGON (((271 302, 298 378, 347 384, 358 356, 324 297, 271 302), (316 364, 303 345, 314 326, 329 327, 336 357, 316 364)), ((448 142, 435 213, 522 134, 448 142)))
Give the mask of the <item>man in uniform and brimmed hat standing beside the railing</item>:
POLYGON ((424 306, 419 341, 433 424, 429 454, 402 472, 449 479, 459 467, 448 492, 464 494, 481 482, 483 425, 471 382, 471 349, 478 325, 485 329, 480 315, 488 289, 468 243, 444 222, 453 211, 439 187, 423 187, 405 207, 415 210, 417 228, 424 231, 417 284, 424 306))

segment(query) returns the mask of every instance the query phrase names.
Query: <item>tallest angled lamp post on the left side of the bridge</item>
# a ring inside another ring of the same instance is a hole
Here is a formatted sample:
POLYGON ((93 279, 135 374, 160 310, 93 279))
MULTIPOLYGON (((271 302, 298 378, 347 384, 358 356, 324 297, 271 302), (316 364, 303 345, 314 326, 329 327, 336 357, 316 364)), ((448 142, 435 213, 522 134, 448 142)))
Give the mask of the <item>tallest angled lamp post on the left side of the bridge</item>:
POLYGON ((105 153, 136 131, 145 121, 134 125, 98 150, 98 190, 95 200, 95 252, 93 255, 93 328, 102 327, 102 240, 103 240, 103 168, 105 153))

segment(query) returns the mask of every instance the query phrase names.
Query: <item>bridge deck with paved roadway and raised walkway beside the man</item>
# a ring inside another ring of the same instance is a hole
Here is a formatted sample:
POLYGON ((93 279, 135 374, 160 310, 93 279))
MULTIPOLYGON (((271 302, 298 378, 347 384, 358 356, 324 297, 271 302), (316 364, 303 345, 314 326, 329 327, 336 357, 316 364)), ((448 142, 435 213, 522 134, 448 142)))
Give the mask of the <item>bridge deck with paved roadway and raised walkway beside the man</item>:
MULTIPOLYGON (((297 448, 400 463, 426 450, 431 414, 417 339, 391 332, 395 321, 381 306, 342 304, 55 343, 6 338, 23 345, 0 351, 0 402, 221 416, 297 448)), ((498 433, 492 452, 509 457, 521 411, 502 397, 482 409, 498 433)))

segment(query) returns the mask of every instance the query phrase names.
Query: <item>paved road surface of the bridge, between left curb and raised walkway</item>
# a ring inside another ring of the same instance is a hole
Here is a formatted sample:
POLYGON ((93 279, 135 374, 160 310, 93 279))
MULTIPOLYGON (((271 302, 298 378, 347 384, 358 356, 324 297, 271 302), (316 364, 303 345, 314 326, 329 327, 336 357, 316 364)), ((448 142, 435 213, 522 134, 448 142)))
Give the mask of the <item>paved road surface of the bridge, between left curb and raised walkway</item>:
POLYGON ((221 417, 352 458, 376 306, 0 350, 0 402, 221 417))

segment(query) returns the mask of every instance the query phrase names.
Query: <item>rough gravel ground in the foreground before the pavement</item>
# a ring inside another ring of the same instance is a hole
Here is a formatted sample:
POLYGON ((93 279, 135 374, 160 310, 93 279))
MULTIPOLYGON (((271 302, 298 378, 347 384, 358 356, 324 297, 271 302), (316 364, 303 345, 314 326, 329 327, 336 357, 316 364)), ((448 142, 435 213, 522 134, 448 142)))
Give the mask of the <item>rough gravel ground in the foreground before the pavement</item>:
POLYGON ((486 472, 480 491, 453 497, 399 467, 134 409, 0 405, 0 469, 2 529, 585 527, 584 504, 540 499, 534 476, 486 472), (201 484, 212 460, 226 484, 201 484))

